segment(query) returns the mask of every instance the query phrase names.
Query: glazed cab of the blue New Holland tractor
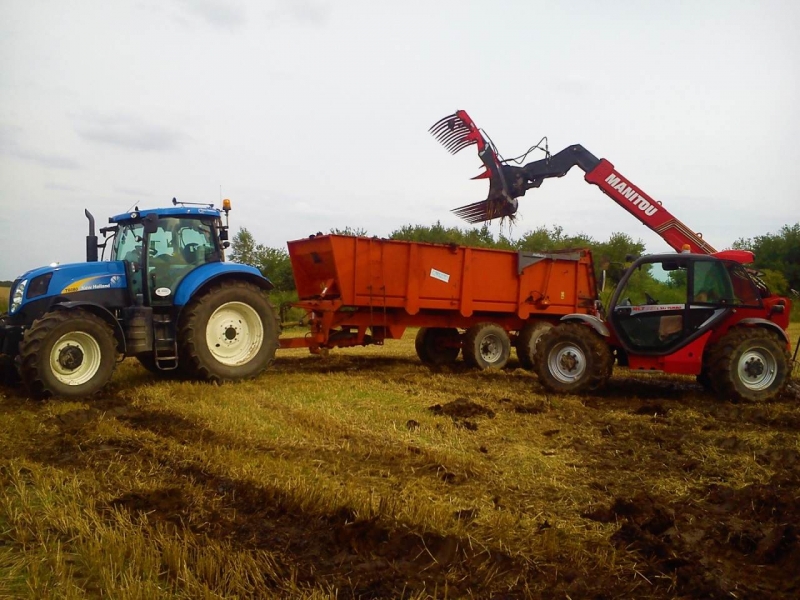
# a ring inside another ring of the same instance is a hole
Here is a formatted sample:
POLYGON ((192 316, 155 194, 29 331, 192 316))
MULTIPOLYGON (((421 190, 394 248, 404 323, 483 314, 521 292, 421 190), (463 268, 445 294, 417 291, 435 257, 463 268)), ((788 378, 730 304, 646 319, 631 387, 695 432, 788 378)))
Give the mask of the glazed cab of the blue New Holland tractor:
POLYGON ((197 267, 224 260, 227 242, 220 211, 166 208, 109 219, 115 226, 111 261, 125 264, 136 304, 169 306, 181 281, 197 267))

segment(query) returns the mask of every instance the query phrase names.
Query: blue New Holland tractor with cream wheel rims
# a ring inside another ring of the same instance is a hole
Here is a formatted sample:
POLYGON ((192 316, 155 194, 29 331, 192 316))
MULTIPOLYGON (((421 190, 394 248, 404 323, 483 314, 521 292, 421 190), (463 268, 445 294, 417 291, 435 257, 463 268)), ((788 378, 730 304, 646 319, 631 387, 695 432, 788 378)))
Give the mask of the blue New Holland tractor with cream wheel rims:
POLYGON ((272 362, 273 285, 225 262, 230 201, 222 210, 172 202, 111 217, 102 243, 85 211, 85 263, 14 281, 0 316, 6 378, 35 397, 81 397, 102 389, 126 356, 152 372, 214 381, 254 377, 272 362), (101 248, 108 260, 98 260, 101 248))

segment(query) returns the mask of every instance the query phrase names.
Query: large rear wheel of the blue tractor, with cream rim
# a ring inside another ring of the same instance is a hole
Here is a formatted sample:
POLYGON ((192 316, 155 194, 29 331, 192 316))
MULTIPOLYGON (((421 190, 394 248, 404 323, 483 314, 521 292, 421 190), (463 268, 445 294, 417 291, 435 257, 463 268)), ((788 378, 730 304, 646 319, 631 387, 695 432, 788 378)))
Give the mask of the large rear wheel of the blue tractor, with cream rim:
POLYGON ((218 284, 181 316, 184 372, 211 381, 255 377, 275 359, 278 332, 275 310, 258 287, 243 281, 218 284))

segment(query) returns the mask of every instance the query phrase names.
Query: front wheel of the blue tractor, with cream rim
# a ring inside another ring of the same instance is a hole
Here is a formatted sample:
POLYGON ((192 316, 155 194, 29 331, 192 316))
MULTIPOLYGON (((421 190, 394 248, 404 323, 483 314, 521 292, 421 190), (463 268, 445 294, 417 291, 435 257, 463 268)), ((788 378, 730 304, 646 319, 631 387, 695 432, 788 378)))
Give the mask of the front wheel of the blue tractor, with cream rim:
POLYGON ((80 398, 100 391, 117 364, 114 331, 80 309, 36 319, 19 345, 20 377, 36 398, 80 398))

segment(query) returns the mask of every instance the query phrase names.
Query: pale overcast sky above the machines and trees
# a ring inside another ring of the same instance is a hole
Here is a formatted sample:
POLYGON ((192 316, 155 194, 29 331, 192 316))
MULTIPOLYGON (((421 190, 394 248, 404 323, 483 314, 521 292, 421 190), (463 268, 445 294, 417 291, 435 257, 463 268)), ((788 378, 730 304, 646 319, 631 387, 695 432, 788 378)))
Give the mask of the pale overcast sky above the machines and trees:
MULTIPOLYGON (((480 161, 427 133, 456 109, 507 157, 583 144, 724 248, 800 220, 798 31, 797 0, 0 0, 0 279, 83 260, 84 208, 220 186, 274 247, 466 226, 480 161)), ((666 249, 582 175, 529 192, 511 235, 666 249)))

